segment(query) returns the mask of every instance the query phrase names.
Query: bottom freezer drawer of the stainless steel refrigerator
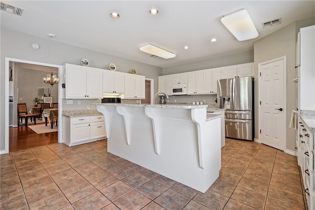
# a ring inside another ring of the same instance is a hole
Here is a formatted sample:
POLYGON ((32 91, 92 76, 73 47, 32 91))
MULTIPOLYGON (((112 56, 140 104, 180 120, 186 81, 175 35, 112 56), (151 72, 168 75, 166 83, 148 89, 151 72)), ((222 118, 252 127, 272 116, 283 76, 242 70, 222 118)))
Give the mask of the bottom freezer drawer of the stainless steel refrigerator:
POLYGON ((252 120, 225 118, 225 136, 252 141, 252 120))

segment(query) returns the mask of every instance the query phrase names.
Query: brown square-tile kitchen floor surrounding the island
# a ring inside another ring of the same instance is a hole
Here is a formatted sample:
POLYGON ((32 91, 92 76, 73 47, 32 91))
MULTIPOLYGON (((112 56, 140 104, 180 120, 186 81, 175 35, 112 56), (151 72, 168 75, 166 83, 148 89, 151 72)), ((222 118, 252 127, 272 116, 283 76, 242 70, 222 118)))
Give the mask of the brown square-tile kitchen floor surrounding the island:
POLYGON ((1 210, 301 210, 295 156, 226 139, 220 177, 198 192, 107 152, 107 141, 0 155, 1 210))

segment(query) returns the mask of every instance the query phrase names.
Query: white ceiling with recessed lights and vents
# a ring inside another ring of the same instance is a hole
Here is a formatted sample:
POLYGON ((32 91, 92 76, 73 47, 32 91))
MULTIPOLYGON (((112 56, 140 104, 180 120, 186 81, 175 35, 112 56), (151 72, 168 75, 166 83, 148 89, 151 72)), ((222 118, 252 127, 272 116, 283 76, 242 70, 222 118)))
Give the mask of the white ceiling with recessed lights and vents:
MULTIPOLYGON (((22 16, 1 11, 1 28, 63 42, 118 57, 167 67, 249 51, 254 41, 295 21, 315 15, 315 0, 1 0, 24 9, 22 16), (158 15, 149 14, 157 8, 158 15), (221 24, 221 17, 247 9, 259 36, 237 39, 221 24), (120 18, 110 17, 118 12, 120 18), (263 29, 262 23, 282 23, 263 29), (217 42, 210 39, 217 38, 217 42), (140 46, 151 43, 176 54, 152 58, 140 46), (184 46, 189 46, 184 50, 184 46)), ((31 47, 31 46, 30 46, 31 47)), ((87 58, 89 59, 89 58, 87 58)))

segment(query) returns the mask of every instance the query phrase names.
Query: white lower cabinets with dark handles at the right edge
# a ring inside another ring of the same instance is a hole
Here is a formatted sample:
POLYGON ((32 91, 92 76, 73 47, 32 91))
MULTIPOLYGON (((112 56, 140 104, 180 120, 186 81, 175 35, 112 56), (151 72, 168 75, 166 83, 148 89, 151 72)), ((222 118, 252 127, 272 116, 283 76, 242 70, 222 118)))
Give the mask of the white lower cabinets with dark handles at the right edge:
POLYGON ((304 121, 300 119, 300 142, 297 143, 298 163, 301 167, 304 191, 309 210, 315 209, 314 183, 314 133, 310 131, 304 121))

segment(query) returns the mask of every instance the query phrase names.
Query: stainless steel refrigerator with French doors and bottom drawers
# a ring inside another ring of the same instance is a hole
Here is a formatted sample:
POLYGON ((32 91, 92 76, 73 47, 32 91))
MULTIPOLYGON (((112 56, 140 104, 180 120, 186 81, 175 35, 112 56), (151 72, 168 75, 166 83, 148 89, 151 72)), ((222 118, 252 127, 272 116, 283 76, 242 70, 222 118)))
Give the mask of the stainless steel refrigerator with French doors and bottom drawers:
POLYGON ((253 78, 218 80, 218 108, 225 110, 225 137, 253 141, 253 78))

